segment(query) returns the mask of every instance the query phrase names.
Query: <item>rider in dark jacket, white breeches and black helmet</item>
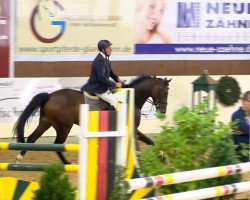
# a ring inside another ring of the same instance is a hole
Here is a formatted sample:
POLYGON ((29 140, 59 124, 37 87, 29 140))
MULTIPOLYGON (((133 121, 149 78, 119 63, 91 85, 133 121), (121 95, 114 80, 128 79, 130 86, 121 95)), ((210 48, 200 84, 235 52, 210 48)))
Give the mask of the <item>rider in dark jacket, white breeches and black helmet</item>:
POLYGON ((113 95, 114 88, 121 88, 123 81, 111 69, 109 56, 112 53, 112 43, 109 40, 100 40, 97 44, 99 53, 95 57, 88 82, 81 87, 81 91, 95 94, 111 105, 111 109, 118 106, 118 100, 113 95), (112 78, 113 80, 109 79, 112 78))

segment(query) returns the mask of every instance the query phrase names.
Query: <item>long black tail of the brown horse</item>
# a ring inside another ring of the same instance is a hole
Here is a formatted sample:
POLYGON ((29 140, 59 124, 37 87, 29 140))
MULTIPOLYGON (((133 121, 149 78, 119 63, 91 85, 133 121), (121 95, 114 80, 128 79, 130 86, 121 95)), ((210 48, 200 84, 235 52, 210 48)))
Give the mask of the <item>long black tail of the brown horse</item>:
POLYGON ((14 135, 17 136, 17 142, 24 143, 24 126, 29 117, 35 113, 39 108, 42 108, 49 100, 49 93, 40 93, 32 98, 28 106, 24 109, 19 116, 14 126, 14 135))

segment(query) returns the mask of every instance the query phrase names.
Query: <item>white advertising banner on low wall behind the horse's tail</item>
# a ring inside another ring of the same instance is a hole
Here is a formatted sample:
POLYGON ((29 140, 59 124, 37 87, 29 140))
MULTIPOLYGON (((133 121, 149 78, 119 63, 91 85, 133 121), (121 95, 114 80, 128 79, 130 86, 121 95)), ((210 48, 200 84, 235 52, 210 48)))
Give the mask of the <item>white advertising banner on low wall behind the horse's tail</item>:
MULTIPOLYGON (((61 89, 60 79, 0 79, 0 123, 14 123, 30 100, 38 93, 61 89)), ((35 116, 38 116, 39 112, 35 116)), ((34 117, 34 121, 38 119, 34 117)))

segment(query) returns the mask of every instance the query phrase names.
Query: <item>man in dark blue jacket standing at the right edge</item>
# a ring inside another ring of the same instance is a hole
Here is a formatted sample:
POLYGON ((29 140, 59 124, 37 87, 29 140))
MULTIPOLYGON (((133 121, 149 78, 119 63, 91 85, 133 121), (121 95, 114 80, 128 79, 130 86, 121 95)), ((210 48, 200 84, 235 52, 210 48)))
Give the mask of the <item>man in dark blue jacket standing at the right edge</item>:
POLYGON ((246 146, 249 149, 249 132, 250 132, 250 91, 245 92, 242 97, 242 106, 232 115, 232 121, 236 122, 236 129, 233 132, 233 141, 237 145, 236 151, 242 162, 249 162, 248 155, 243 155, 242 150, 246 146))

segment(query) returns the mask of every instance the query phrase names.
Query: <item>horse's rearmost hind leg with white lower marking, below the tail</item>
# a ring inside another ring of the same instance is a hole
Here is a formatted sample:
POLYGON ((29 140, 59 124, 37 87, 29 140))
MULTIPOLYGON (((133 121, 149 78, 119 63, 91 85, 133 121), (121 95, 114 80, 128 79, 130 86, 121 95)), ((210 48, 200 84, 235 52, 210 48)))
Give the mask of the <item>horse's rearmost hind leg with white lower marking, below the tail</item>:
MULTIPOLYGON (((47 131, 51 127, 50 123, 46 120, 40 120, 37 128, 33 131, 33 133, 28 137, 26 143, 34 143, 42 134, 47 131)), ((20 162, 27 151, 22 150, 16 158, 16 162, 20 162)))

